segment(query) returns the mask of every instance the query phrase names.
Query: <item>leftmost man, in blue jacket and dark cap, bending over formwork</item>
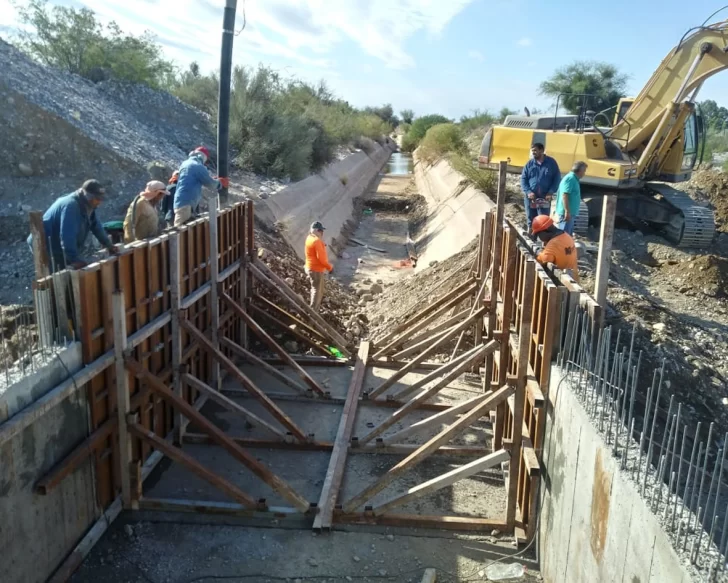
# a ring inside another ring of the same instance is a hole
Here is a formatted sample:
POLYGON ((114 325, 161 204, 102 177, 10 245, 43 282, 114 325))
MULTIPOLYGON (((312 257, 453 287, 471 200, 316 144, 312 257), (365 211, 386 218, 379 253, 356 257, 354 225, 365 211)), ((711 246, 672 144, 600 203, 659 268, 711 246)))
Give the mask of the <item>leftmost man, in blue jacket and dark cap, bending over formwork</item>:
MULTIPOLYGON (((81 188, 59 197, 43 215, 43 230, 48 244, 48 255, 52 271, 67 267, 80 269, 88 265, 81 256, 89 231, 109 253, 115 254, 96 209, 103 202, 106 191, 98 180, 87 180, 81 188)), ((33 235, 28 237, 33 248, 33 235)))

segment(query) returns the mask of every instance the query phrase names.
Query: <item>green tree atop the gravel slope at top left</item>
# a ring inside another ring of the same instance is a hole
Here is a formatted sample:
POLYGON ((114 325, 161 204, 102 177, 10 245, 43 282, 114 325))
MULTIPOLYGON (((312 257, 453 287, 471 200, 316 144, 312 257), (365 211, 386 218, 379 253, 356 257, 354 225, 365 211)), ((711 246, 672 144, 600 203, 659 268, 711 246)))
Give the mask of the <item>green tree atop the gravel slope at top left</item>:
POLYGON ((163 87, 174 67, 154 36, 125 34, 115 22, 104 29, 88 8, 48 7, 46 0, 17 4, 20 48, 45 65, 98 80, 99 71, 123 81, 163 87))

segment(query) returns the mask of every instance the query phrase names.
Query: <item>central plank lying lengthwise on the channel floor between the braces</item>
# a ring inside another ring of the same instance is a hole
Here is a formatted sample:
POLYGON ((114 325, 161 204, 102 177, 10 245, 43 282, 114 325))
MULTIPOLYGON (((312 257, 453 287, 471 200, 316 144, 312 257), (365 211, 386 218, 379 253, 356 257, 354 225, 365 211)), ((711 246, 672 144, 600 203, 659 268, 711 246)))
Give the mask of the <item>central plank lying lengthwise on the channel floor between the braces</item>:
POLYGON ((349 383, 349 390, 346 394, 346 403, 339 420, 339 428, 336 432, 334 450, 331 453, 329 467, 326 470, 324 485, 321 489, 318 507, 319 514, 313 522, 314 530, 330 530, 333 522, 334 506, 339 495, 341 482, 344 478, 344 467, 346 465, 346 454, 349 450, 349 442, 356 420, 359 394, 366 375, 367 359, 369 358, 369 342, 364 341, 359 345, 354 372, 349 383))

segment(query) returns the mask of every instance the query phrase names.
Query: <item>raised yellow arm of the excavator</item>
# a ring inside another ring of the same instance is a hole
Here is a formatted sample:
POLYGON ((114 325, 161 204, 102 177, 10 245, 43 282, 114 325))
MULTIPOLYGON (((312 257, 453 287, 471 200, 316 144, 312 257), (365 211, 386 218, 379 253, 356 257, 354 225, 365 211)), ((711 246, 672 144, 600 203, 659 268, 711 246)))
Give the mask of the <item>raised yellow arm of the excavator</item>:
POLYGON ((637 175, 651 180, 682 137, 685 120, 706 79, 728 68, 728 20, 697 27, 662 60, 610 133, 638 157, 637 175))

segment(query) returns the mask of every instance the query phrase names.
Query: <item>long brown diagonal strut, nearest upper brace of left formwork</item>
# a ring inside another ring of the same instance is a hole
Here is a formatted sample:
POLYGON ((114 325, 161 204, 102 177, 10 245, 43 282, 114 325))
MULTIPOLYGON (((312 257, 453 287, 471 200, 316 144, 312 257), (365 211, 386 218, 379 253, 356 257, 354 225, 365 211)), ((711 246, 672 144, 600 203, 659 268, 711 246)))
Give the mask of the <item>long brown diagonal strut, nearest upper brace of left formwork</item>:
POLYGON ((126 367, 138 378, 144 380, 160 397, 163 397, 175 408, 180 409, 192 423, 207 433, 213 440, 215 440, 215 442, 217 442, 218 445, 241 462, 263 482, 268 484, 275 492, 280 494, 299 510, 305 512, 309 509, 310 504, 305 498, 299 495, 286 482, 271 472, 264 464, 260 463, 257 459, 255 459, 255 457, 251 456, 247 451, 225 435, 222 429, 199 413, 192 405, 187 403, 187 401, 179 399, 177 395, 169 390, 167 385, 146 370, 139 362, 133 358, 127 358, 126 367))

